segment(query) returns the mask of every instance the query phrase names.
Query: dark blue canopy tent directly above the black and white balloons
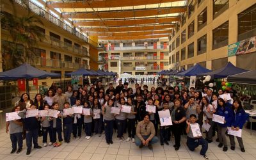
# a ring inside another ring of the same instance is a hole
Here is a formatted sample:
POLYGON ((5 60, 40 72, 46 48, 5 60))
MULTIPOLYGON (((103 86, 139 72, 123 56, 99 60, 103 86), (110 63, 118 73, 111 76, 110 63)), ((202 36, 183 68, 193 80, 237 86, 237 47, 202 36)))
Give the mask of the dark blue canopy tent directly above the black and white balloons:
POLYGON ((218 70, 214 70, 212 72, 198 74, 198 76, 211 76, 214 78, 225 78, 227 76, 232 76, 234 74, 240 74, 240 73, 246 72, 246 71, 248 71, 248 70, 238 68, 228 61, 227 65, 225 67, 222 67, 218 70))

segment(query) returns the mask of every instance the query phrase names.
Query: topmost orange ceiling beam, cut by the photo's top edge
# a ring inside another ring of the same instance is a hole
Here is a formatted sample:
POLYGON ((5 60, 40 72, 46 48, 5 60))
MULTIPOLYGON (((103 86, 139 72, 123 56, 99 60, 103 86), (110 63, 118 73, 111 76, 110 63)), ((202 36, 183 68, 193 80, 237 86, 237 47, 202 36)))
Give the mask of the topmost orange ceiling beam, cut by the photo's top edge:
POLYGON ((127 1, 49 1, 46 3, 48 8, 112 8, 122 6, 140 6, 147 4, 169 3, 181 0, 127 0, 127 1))

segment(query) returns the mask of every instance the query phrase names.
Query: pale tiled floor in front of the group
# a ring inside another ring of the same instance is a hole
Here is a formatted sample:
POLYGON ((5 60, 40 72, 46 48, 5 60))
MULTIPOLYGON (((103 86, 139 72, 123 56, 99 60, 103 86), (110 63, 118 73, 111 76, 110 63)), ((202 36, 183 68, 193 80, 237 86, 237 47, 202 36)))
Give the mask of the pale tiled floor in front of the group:
MULTIPOLYGON (((256 159, 255 135, 255 131, 253 131, 251 136, 250 130, 244 129, 243 141, 246 150, 245 153, 241 152, 239 147, 234 151, 228 148, 227 152, 223 152, 221 148, 218 148, 218 143, 214 142, 209 144, 207 156, 209 159, 256 159)), ((200 147, 196 148, 195 152, 188 150, 186 147, 186 136, 182 136, 182 145, 179 151, 175 151, 172 147, 173 138, 170 145, 161 147, 160 143, 157 143, 153 145, 153 150, 148 150, 147 147, 140 149, 131 142, 117 141, 116 134, 114 134, 113 141, 113 145, 107 145, 103 134, 102 137, 92 136, 90 140, 85 140, 84 136, 82 136, 80 140, 72 140, 69 144, 63 143, 58 148, 43 147, 41 149, 33 149, 29 156, 26 156, 26 142, 24 141, 22 152, 20 154, 10 155, 10 136, 6 134, 4 129, 1 129, 0 159, 203 159, 199 155, 200 147)), ((38 142, 42 145, 42 138, 38 138, 38 142)))

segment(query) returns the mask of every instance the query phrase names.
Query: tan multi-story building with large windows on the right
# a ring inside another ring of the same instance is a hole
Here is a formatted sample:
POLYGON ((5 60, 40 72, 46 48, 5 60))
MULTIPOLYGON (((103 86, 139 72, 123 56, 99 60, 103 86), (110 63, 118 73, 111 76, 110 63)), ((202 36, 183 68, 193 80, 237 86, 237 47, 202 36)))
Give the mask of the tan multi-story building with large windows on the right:
POLYGON ((255 51, 228 56, 228 45, 256 36, 255 17, 255 0, 188 1, 188 12, 182 15, 170 40, 170 68, 200 63, 216 70, 230 61, 237 67, 255 70, 255 51))

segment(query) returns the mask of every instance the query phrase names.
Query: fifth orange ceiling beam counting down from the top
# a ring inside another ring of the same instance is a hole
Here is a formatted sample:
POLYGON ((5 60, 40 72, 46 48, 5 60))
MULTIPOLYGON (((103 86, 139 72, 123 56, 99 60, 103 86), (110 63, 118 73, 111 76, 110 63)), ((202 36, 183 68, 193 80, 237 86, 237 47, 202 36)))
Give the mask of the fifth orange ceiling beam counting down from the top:
POLYGON ((138 32, 119 32, 119 33, 88 33, 88 36, 138 36, 138 35, 159 35, 172 33, 172 30, 163 31, 138 31, 138 32))

